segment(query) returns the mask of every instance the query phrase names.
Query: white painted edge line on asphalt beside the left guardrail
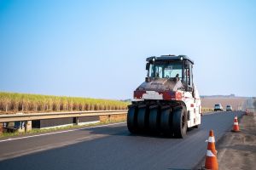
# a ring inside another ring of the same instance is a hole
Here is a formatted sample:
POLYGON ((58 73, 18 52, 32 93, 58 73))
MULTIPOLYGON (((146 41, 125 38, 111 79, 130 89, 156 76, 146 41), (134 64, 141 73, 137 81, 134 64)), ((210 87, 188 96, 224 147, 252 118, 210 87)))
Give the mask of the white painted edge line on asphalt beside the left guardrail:
MULTIPOLYGON (((125 123, 125 122, 117 122, 117 123, 112 123, 112 124, 107 124, 107 125, 99 125, 99 126, 96 126, 96 127, 109 127, 109 126, 119 125, 119 124, 123 124, 123 123, 125 123)), ((12 141, 12 140, 18 140, 18 139, 34 138, 34 137, 45 136, 45 135, 50 135, 50 134, 68 133, 68 132, 73 132, 73 131, 78 131, 78 130, 84 130, 84 129, 90 129, 90 128, 96 128, 96 127, 83 127, 83 128, 76 128, 76 129, 65 130, 65 131, 60 131, 60 132, 36 134, 36 135, 32 135, 32 136, 24 136, 24 137, 14 138, 14 139, 4 139, 4 140, 0 140, 0 143, 1 143, 1 142, 12 141)))

